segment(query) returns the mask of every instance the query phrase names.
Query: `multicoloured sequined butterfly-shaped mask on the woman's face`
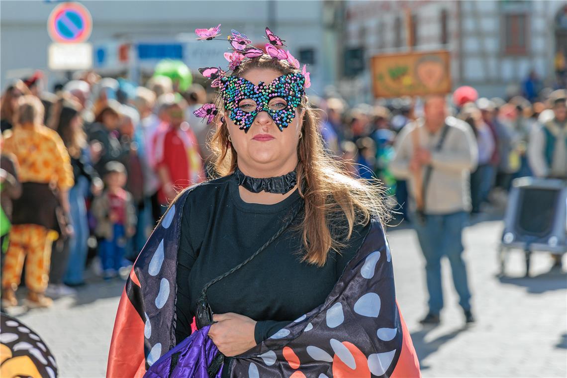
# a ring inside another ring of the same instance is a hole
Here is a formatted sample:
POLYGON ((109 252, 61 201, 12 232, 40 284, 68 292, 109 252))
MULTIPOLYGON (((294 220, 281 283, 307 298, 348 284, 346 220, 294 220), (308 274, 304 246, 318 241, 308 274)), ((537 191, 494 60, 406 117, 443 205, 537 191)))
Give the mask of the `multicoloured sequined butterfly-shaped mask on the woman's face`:
POLYGON ((247 133, 256 115, 267 112, 284 131, 301 104, 304 83, 302 74, 281 75, 269 84, 260 82, 257 86, 238 76, 225 76, 221 78, 221 93, 230 119, 240 130, 247 133))

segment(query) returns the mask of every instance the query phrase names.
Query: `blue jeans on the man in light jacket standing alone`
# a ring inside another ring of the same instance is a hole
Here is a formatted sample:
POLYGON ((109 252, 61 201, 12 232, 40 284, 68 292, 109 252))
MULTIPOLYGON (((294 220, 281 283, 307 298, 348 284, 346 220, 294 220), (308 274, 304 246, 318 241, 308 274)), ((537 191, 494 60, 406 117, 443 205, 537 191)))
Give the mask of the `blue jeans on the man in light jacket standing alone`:
POLYGON ((429 313, 439 315, 443 308, 441 286, 441 258, 446 256, 451 264, 455 290, 464 311, 471 310, 471 292, 467 281, 467 268, 462 254, 462 232, 467 222, 465 211, 444 215, 424 215, 422 220, 414 216, 414 228, 425 257, 425 276, 429 292, 429 313))

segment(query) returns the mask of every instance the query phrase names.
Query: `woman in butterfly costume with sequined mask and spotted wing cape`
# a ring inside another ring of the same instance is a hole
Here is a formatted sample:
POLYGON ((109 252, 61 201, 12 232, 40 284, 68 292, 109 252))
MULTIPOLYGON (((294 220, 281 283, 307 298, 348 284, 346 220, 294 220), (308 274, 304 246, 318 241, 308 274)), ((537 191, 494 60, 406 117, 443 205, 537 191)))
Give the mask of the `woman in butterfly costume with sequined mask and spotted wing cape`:
POLYGON ((231 72, 201 69, 218 178, 180 193, 140 253, 108 377, 420 376, 379 186, 325 154, 306 67, 266 38, 233 30, 231 72))

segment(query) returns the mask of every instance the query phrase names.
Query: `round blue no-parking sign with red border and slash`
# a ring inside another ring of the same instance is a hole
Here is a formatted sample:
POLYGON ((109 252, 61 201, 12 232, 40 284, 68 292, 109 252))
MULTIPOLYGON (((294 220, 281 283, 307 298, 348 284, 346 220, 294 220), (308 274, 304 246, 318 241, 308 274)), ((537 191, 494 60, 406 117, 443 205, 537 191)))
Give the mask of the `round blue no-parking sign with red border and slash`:
POLYGON ((49 15, 47 30, 51 39, 56 42, 84 42, 91 35, 91 14, 79 3, 61 3, 49 15))

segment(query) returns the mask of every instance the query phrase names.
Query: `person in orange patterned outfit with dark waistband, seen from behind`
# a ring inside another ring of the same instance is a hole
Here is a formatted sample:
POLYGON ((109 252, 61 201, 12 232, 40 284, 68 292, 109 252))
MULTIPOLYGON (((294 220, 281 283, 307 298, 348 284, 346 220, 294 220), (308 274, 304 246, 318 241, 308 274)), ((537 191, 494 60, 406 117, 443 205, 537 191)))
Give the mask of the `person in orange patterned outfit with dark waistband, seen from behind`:
POLYGON ((69 214, 67 192, 73 186, 69 154, 61 137, 43 126, 44 107, 35 96, 20 97, 16 125, 6 134, 4 151, 19 163, 22 196, 14 202, 10 247, 2 272, 2 302, 18 304, 15 291, 26 258, 26 286, 30 307, 48 307, 44 295, 48 283, 51 244, 69 214), (57 211, 56 209, 62 209, 57 211))

